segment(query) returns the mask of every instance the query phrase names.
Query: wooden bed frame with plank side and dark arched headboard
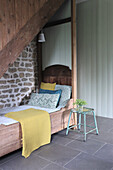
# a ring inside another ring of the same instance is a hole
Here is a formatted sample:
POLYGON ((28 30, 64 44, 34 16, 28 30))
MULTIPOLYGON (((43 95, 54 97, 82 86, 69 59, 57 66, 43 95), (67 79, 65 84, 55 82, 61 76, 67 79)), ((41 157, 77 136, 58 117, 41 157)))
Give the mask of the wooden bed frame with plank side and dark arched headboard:
MULTIPOLYGON (((67 66, 53 65, 42 72, 43 82, 62 85, 71 85, 71 70, 67 66)), ((70 109, 73 107, 73 99, 70 99, 65 108, 50 113, 51 134, 61 131, 67 127, 70 109)), ((75 122, 74 114, 70 125, 75 122)), ((22 132, 20 123, 12 125, 0 125, 0 157, 22 147, 22 132)))

